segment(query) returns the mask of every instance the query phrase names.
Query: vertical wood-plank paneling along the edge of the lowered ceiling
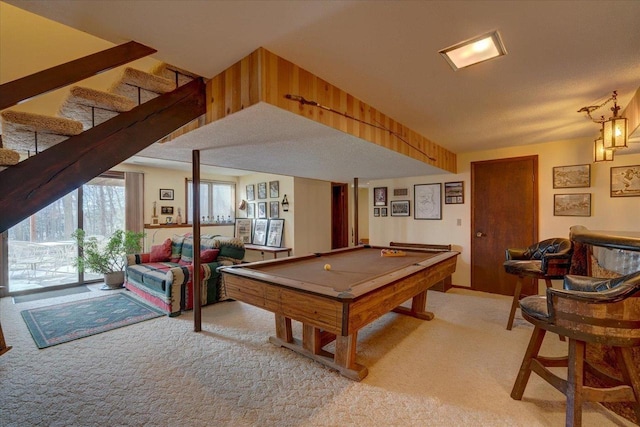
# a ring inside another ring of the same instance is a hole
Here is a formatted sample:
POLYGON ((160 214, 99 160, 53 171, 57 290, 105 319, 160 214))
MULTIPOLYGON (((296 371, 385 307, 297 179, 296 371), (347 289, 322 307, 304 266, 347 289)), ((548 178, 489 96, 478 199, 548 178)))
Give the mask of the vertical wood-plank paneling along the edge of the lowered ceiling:
POLYGON ((207 83, 207 123, 258 102, 266 102, 355 137, 394 150, 440 169, 456 172, 456 154, 398 123, 358 98, 333 86, 264 48, 251 53, 207 83), (378 125, 286 99, 299 95, 308 101, 378 125), (393 133, 407 141, 405 143, 393 133), (425 155, 426 153, 426 155, 425 155), (429 157, 435 160, 429 159, 429 157))

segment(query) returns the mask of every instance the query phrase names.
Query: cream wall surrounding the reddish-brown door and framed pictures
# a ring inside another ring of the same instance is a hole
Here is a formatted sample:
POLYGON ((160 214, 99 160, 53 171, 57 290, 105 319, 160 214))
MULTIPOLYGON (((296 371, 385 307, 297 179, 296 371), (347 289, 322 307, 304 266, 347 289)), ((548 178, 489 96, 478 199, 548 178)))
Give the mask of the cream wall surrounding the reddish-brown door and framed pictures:
MULTIPOLYGON (((388 187, 389 200, 411 200, 411 217, 373 217, 372 195, 369 196, 369 238, 372 244, 390 241, 452 244, 461 252, 453 284, 471 286, 471 162, 509 157, 538 155, 539 238, 569 235, 572 225, 584 225, 591 230, 639 231, 640 198, 609 196, 610 168, 612 166, 640 165, 640 154, 617 155, 614 162, 592 163, 592 140, 569 140, 520 147, 462 153, 458 155, 457 174, 444 173, 422 177, 378 180, 373 187, 388 187), (591 164, 590 188, 553 188, 553 167, 591 164), (442 220, 413 219, 413 185, 464 181, 465 203, 442 204, 442 220), (393 197, 393 188, 409 188, 409 197, 393 197), (564 217, 553 215, 553 195, 564 193, 591 193, 590 217, 564 217), (460 219, 461 225, 457 225, 460 219)), ((533 243, 533 242, 532 242, 533 243)))

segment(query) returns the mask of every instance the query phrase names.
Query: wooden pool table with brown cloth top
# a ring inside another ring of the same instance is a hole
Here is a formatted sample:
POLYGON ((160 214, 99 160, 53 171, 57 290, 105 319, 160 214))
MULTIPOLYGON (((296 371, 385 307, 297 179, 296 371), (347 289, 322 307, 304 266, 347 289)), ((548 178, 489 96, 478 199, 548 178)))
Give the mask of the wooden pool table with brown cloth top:
POLYGON ((230 298, 275 313, 272 343, 360 381, 368 371, 356 363, 358 330, 390 311, 431 320, 427 289, 455 271, 457 256, 365 245, 220 271, 230 298), (404 256, 382 256, 383 249, 404 256), (411 308, 400 307, 409 299, 411 308), (292 320, 302 323, 302 340, 293 336, 292 320), (334 353, 323 349, 333 341, 334 353))

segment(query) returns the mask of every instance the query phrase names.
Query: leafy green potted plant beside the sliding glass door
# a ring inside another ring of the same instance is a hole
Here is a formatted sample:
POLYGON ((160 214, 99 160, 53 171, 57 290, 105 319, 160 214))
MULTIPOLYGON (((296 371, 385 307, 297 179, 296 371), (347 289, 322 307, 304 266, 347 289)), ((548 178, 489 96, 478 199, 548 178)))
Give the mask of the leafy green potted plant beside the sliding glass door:
POLYGON ((141 252, 144 233, 116 230, 108 240, 100 242, 95 237, 86 238, 85 231, 78 229, 72 237, 80 248, 80 256, 76 260, 79 270, 102 273, 103 289, 118 289, 124 283, 127 254, 141 252))

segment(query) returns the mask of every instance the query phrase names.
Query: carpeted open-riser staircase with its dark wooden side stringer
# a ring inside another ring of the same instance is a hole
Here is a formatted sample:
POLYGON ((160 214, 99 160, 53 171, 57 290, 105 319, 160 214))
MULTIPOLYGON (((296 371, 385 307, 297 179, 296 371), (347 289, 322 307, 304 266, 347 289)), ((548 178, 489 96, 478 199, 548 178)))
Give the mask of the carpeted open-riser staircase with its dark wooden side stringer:
POLYGON ((202 78, 167 64, 126 68, 106 92, 73 86, 57 116, 4 110, 0 232, 205 112, 202 78))

